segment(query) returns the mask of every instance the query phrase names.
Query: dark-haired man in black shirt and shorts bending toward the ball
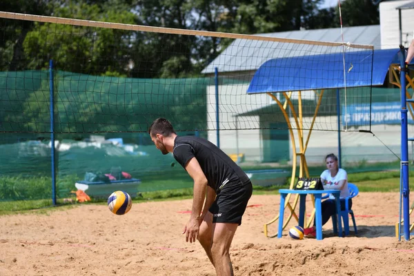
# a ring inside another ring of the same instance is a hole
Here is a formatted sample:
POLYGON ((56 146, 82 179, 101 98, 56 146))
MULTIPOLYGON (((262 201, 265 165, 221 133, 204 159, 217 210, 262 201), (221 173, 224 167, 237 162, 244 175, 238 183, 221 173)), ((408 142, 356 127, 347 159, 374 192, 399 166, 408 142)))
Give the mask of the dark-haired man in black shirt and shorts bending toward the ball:
POLYGON ((172 152, 194 180, 193 208, 183 231, 186 242, 198 239, 217 275, 233 275, 230 244, 252 195, 250 179, 213 143, 178 136, 167 119, 156 119, 148 133, 155 146, 164 155, 172 152))

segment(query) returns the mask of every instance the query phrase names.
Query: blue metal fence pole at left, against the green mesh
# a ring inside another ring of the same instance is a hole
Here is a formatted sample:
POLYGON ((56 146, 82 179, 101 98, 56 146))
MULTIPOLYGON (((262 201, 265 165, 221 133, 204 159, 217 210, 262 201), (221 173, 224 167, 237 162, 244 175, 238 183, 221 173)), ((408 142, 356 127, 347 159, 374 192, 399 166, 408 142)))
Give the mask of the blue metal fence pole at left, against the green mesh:
POLYGON ((49 61, 49 92, 50 92, 50 158, 52 159, 52 204, 56 205, 55 178, 55 106, 53 92, 53 60, 49 61))

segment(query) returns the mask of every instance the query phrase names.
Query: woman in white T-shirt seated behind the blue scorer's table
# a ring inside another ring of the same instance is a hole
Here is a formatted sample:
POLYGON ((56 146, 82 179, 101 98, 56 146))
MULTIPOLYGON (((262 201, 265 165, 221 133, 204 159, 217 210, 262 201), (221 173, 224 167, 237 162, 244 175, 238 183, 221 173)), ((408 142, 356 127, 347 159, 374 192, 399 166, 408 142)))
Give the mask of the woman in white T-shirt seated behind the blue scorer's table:
MULTIPOLYGON (((341 190, 340 201, 341 201, 341 210, 345 210, 345 197, 349 196, 348 190, 348 175, 346 171, 342 168, 338 168, 338 157, 333 153, 326 155, 326 168, 321 175, 322 184, 324 184, 325 190, 341 190)), ((352 199, 348 201, 349 208, 352 207, 352 199)), ((335 197, 329 195, 329 199, 322 201, 322 225, 328 222, 329 218, 335 214, 336 204, 335 197)), ((316 227, 315 220, 313 221, 313 226, 311 228, 304 229, 304 235, 306 237, 315 238, 316 237, 316 227)))

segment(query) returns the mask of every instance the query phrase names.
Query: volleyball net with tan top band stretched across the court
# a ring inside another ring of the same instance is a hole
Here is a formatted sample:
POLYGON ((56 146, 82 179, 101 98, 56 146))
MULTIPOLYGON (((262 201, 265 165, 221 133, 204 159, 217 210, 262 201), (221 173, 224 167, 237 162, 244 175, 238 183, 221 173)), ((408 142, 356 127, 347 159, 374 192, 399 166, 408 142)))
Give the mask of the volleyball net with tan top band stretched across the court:
MULTIPOLYGON (((315 130, 337 130, 337 88, 343 105, 369 114, 371 46, 7 12, 0 17, 1 132, 50 132, 50 95, 57 133, 146 132, 157 117, 186 131, 274 128, 273 121, 284 118, 266 92, 290 92, 292 106, 300 101, 306 118, 326 90, 315 130), (256 72, 262 78, 251 83, 256 72), (367 87, 347 85, 349 76, 367 87), (260 94, 248 94, 249 86, 260 94), (299 99, 301 90, 307 92, 299 99)), ((369 121, 356 126, 368 129, 369 121)))

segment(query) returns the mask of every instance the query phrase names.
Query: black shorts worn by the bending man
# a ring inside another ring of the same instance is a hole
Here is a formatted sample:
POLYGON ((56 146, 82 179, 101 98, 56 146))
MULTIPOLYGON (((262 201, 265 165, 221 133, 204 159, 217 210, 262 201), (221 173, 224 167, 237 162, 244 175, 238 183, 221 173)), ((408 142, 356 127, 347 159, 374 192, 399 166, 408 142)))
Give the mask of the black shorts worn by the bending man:
POLYGON ((245 185, 239 181, 226 184, 208 209, 213 214, 213 223, 242 224, 242 216, 252 192, 253 186, 250 181, 245 185))

